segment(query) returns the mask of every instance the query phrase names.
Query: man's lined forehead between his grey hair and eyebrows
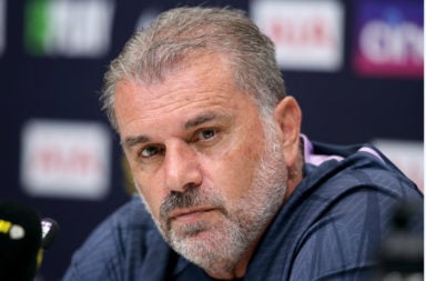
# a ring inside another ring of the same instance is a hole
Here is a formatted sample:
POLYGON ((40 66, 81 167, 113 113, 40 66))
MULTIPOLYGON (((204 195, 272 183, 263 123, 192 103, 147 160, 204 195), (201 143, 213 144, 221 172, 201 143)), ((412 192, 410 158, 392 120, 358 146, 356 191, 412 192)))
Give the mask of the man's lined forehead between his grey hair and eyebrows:
POLYGON ((175 118, 176 113, 206 108, 237 109, 247 100, 251 98, 235 86, 232 69, 224 58, 206 54, 174 68, 160 82, 120 81, 114 107, 121 130, 136 120, 175 118))

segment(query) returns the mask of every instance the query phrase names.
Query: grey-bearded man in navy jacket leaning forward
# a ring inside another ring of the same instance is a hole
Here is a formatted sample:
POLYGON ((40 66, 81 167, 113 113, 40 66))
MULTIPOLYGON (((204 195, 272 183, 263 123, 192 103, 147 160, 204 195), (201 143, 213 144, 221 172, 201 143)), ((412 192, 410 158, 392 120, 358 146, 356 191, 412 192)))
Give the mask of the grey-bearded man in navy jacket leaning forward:
POLYGON ((393 205, 423 202, 375 149, 301 134, 273 43, 239 11, 161 14, 112 61, 102 101, 140 197, 65 280, 366 280, 393 205))

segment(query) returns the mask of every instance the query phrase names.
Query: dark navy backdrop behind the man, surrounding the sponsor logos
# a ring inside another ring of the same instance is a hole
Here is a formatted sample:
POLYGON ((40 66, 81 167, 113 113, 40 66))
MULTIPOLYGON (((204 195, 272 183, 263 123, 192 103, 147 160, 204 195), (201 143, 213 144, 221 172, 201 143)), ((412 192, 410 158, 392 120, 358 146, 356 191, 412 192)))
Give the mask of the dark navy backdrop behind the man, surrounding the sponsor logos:
MULTIPOLYGON (((49 16, 47 7, 60 1, 2 1, 0 119, 4 130, 0 138, 0 198, 28 202, 43 215, 59 222, 61 232, 45 253, 39 277, 39 280, 59 280, 72 252, 89 232, 129 198, 124 189, 122 153, 118 137, 111 131, 111 187, 102 200, 32 195, 24 191, 20 181, 23 126, 31 119, 44 119, 94 121, 108 127, 98 100, 102 76, 109 61, 120 52, 139 24, 156 12, 175 6, 229 4, 250 10, 250 2, 88 0, 85 2, 108 2, 112 9, 111 19, 108 18, 110 21, 105 21, 104 26, 108 28, 111 24, 111 32, 106 32, 110 37, 108 40, 103 38, 106 41, 100 41, 104 49, 99 47, 98 52, 90 56, 84 54, 84 48, 75 49, 77 53, 72 53, 67 51, 67 44, 58 47, 53 42, 53 49, 42 44, 49 36, 59 37, 58 32, 65 38, 78 37, 72 34, 71 28, 62 31, 45 29, 49 17, 53 17, 49 16), (34 11, 42 16, 36 17, 34 11)), ((404 2, 416 3, 423 11, 420 1, 404 2)), ((303 132, 312 139, 335 143, 365 142, 377 138, 423 141, 423 77, 359 76, 352 63, 356 40, 356 0, 341 3, 345 16, 342 67, 337 71, 326 72, 283 70, 288 93, 296 97, 303 109, 303 132)), ((89 16, 93 18, 97 14, 89 16)), ((79 19, 68 22, 79 24, 79 19)), ((88 34, 99 34, 97 32, 92 30, 88 34)), ((71 46, 73 41, 65 42, 71 46)))

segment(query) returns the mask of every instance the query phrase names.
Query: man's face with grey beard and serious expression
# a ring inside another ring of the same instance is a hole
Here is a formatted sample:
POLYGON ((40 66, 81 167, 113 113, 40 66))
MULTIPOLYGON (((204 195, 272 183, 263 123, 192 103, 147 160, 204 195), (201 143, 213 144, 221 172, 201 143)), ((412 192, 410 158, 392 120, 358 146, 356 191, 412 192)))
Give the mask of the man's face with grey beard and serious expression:
POLYGON ((281 207, 287 178, 275 127, 265 134, 225 62, 203 56, 158 83, 121 81, 115 113, 138 190, 168 242, 204 269, 235 267, 281 207))

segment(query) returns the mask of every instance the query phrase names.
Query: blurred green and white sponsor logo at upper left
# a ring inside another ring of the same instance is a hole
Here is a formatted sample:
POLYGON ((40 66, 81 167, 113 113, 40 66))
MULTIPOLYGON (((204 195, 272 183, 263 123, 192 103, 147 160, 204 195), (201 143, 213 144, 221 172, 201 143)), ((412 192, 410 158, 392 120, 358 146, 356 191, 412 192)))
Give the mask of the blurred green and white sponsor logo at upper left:
POLYGON ((30 0, 24 46, 32 56, 98 58, 110 49, 114 2, 30 0))

